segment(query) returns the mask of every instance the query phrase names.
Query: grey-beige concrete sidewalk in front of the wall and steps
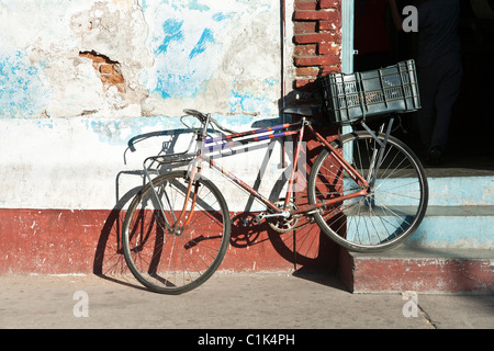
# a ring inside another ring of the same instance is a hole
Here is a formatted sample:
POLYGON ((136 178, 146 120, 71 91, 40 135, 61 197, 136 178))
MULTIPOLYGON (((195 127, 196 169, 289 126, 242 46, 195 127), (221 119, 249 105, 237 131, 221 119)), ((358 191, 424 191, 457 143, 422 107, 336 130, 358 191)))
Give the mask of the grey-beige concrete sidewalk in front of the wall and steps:
POLYGON ((179 296, 131 278, 4 275, 0 328, 492 329, 494 296, 351 294, 334 275, 300 272, 218 272, 179 296))

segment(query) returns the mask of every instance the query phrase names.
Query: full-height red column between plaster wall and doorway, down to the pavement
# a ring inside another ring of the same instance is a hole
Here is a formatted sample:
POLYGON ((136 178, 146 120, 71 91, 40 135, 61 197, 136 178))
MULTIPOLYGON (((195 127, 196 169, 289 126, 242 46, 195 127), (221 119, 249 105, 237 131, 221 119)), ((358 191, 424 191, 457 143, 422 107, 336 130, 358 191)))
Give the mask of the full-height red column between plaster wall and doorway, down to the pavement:
MULTIPOLYGON (((321 89, 314 81, 326 73, 341 71, 341 1, 350 0, 293 0, 293 65, 295 77, 293 92, 287 98, 288 105, 321 102, 321 89)), ((292 116, 295 121, 297 116, 292 116)), ((324 113, 311 120, 325 118, 324 113)), ((338 131, 334 126, 319 125, 317 132, 333 141, 338 131)), ((321 154, 322 147, 311 135, 306 136, 306 172, 321 154)), ((302 191, 295 202, 307 203, 302 191)), ((296 242, 295 261, 304 268, 333 270, 337 267, 339 247, 316 225, 293 231, 296 242), (311 251, 305 246, 310 244, 311 251)), ((285 240, 285 239, 283 239, 285 240)), ((287 241, 285 241, 287 242, 287 241)))

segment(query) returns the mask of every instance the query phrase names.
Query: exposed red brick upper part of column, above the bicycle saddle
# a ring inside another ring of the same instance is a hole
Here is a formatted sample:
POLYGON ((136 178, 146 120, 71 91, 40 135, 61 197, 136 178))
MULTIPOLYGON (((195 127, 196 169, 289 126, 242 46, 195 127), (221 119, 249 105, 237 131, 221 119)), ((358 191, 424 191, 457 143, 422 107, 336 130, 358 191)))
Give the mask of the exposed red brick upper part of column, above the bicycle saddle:
POLYGON ((294 88, 341 71, 341 0, 294 0, 294 88))

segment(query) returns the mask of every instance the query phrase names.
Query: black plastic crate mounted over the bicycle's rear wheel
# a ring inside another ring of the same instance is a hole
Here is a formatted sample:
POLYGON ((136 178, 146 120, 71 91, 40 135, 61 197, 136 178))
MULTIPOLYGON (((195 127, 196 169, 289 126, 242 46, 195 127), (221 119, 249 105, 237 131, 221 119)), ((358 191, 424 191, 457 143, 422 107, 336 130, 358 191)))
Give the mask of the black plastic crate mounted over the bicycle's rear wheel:
POLYGON ((321 81, 332 123, 350 124, 360 118, 420 109, 413 59, 364 72, 333 73, 321 81))

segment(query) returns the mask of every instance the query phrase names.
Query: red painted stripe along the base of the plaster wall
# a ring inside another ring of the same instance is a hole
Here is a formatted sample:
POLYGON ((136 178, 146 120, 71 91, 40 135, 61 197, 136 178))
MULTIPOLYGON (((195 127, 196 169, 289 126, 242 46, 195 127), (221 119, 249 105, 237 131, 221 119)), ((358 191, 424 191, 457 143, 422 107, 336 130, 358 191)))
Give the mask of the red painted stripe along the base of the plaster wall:
MULTIPOLYGON (((124 215, 117 210, 0 210, 0 274, 126 273, 120 244, 124 215)), ((267 225, 240 226, 239 218, 249 214, 231 215, 222 270, 336 269, 336 246, 318 228, 279 234, 267 225)))

